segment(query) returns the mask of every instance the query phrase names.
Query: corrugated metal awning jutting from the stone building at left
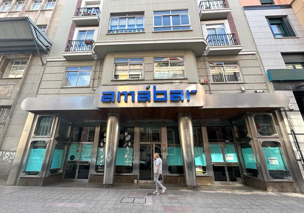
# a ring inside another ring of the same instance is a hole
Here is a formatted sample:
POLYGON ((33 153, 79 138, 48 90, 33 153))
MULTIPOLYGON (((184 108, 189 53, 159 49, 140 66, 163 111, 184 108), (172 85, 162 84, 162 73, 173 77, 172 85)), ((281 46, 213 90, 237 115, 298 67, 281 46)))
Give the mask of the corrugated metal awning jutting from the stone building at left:
MULTIPOLYGON (((0 18, 0 54, 47 53, 50 38, 29 17, 0 18)), ((40 60, 42 58, 40 56, 40 60)))

